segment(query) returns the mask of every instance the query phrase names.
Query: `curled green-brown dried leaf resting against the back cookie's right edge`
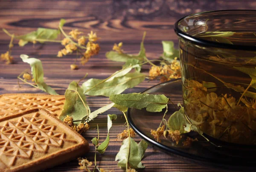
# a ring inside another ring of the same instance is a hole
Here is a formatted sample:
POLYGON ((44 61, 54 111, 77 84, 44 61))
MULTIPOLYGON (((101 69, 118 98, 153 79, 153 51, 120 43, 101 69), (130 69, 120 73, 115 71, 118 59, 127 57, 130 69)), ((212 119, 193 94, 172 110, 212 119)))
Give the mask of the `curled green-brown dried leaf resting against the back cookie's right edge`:
MULTIPOLYGON (((75 81, 71 82, 68 86, 65 92, 65 99, 66 101, 59 117, 62 121, 67 115, 72 116, 73 120, 76 121, 81 120, 90 114, 90 107, 86 102, 83 89, 79 87, 75 81)), ((74 123, 79 124, 80 122, 74 123)))

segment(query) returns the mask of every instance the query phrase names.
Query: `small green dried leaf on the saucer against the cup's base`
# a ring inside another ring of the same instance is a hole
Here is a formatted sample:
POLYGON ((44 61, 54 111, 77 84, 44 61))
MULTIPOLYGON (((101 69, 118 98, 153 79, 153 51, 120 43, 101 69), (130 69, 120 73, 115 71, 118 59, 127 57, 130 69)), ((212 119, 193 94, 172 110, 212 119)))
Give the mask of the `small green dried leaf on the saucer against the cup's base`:
POLYGON ((184 116, 184 107, 181 107, 179 111, 173 113, 168 120, 168 128, 171 131, 179 130, 181 134, 186 133, 184 126, 186 126, 187 120, 184 116))

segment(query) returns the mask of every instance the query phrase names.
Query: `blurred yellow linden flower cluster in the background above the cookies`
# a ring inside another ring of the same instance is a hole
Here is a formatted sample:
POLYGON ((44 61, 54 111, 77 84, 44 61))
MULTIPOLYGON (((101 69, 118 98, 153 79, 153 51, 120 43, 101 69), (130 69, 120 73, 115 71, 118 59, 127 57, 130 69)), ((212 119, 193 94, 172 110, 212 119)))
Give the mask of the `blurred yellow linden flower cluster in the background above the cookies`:
MULTIPOLYGON (((88 62, 91 56, 95 56, 99 54, 100 47, 99 44, 95 43, 99 38, 97 37, 96 33, 93 33, 93 31, 88 34, 88 37, 81 36, 83 34, 78 29, 74 29, 70 31, 69 35, 70 37, 65 37, 61 41, 61 45, 64 45, 65 48, 58 51, 57 57, 62 57, 67 54, 72 54, 74 51, 82 54, 82 57, 80 59, 81 63, 84 65, 88 62), (86 43, 86 39, 88 39, 88 42, 86 43), (86 45, 86 46, 84 46, 86 45), (83 50, 86 50, 83 52, 83 50)), ((77 69, 77 65, 71 65, 71 69, 77 69)))

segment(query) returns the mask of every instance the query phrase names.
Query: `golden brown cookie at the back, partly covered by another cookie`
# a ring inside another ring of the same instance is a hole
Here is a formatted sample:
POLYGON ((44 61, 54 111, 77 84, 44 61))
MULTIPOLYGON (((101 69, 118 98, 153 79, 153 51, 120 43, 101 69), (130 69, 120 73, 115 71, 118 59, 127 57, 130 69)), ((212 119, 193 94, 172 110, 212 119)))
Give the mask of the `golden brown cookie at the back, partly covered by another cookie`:
POLYGON ((0 95, 0 118, 22 113, 33 108, 43 108, 57 118, 65 103, 65 96, 44 94, 2 94, 0 95))

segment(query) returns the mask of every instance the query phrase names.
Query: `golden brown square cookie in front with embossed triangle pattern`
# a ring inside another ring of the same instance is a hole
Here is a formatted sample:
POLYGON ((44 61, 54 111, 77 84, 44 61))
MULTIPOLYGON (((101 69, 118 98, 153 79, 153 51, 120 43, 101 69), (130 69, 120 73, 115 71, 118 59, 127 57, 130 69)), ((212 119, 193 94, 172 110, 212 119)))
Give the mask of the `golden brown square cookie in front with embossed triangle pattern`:
POLYGON ((44 109, 0 119, 0 171, 35 172, 83 156, 87 141, 44 109))

